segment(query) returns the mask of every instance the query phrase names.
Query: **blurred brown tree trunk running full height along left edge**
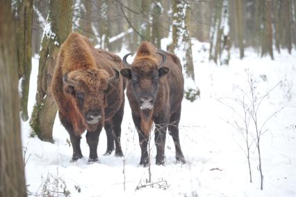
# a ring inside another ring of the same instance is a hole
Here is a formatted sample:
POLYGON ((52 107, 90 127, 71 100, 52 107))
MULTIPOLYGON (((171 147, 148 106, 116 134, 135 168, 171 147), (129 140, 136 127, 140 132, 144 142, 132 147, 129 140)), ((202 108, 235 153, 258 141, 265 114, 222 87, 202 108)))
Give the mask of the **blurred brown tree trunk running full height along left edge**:
POLYGON ((0 0, 0 196, 26 196, 11 2, 0 0))

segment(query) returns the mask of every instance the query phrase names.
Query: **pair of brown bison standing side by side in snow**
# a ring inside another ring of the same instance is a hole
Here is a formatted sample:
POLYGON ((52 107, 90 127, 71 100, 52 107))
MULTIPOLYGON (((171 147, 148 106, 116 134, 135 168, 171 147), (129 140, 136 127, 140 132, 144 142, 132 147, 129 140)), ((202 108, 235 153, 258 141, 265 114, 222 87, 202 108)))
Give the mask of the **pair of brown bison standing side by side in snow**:
POLYGON ((166 130, 172 136, 176 161, 186 160, 179 141, 179 120, 184 79, 180 60, 174 54, 156 50, 142 42, 133 63, 126 54, 121 59, 103 49, 95 49, 88 38, 69 34, 60 47, 51 90, 58 106, 60 122, 69 133, 72 161, 83 157, 81 134, 87 130, 89 161, 98 161, 97 145, 104 127, 110 155, 122 157, 121 124, 124 115, 124 90, 129 100, 133 123, 141 148, 140 165, 149 164, 148 143, 155 124, 156 164, 165 164, 166 130))

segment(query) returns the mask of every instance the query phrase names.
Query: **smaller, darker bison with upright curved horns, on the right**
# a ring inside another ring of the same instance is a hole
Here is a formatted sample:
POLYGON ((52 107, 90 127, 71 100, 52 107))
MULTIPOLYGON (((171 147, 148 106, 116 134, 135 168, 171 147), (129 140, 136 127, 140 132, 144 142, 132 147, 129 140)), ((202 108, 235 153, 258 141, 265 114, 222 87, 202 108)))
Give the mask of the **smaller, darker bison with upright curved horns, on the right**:
POLYGON ((176 160, 186 163, 179 141, 179 120, 183 100, 184 79, 180 60, 174 54, 156 52, 150 42, 142 42, 131 65, 123 58, 126 68, 120 70, 129 79, 126 95, 131 106, 133 123, 138 129, 141 159, 147 166, 147 143, 152 122, 155 123, 156 164, 165 163, 167 127, 174 140, 176 160))

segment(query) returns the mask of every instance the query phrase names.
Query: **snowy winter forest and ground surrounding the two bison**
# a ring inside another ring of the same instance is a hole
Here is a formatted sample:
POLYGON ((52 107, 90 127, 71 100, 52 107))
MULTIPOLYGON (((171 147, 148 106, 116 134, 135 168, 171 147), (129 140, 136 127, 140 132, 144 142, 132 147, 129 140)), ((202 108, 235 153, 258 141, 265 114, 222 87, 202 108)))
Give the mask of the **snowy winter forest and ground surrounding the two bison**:
POLYGON ((296 196, 295 6, 296 0, 0 0, 0 196, 296 196), (69 162, 72 148, 50 85, 70 32, 120 57, 143 40, 179 56, 188 164, 175 164, 168 137, 165 166, 154 158, 149 171, 138 166, 128 102, 124 158, 102 155, 102 132, 100 163, 69 162))

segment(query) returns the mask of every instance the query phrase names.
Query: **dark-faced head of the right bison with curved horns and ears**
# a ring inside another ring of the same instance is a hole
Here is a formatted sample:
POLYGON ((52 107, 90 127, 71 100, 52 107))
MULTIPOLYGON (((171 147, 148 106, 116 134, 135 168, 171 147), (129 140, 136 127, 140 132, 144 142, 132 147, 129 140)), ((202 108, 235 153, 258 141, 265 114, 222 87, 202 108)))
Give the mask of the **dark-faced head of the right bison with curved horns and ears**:
POLYGON ((127 68, 120 70, 123 77, 131 79, 132 91, 140 109, 150 110, 154 107, 155 98, 158 91, 159 78, 165 76, 169 68, 163 67, 167 57, 161 52, 156 52, 162 56, 160 64, 156 59, 147 56, 147 58, 139 58, 132 65, 127 63, 126 58, 132 53, 126 54, 123 63, 127 68))

